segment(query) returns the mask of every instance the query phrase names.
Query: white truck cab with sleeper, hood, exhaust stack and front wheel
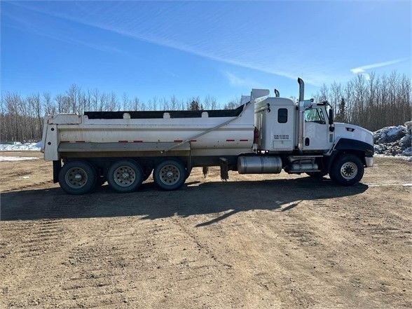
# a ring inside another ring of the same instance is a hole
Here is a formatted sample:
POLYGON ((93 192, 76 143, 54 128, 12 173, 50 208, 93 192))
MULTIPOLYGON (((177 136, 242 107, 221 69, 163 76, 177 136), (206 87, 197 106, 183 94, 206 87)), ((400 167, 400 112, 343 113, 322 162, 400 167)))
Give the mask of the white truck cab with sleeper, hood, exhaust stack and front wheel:
MULTIPOLYGON (((299 99, 261 97, 255 102, 255 125, 259 131, 257 148, 268 156, 280 156, 289 173, 312 177, 329 174, 345 185, 362 179, 364 167, 373 166, 372 132, 357 125, 334 123, 328 102, 304 99, 304 83, 299 99)), ((252 90, 251 99, 263 93, 252 90), (256 92, 256 94, 254 93, 256 92)))

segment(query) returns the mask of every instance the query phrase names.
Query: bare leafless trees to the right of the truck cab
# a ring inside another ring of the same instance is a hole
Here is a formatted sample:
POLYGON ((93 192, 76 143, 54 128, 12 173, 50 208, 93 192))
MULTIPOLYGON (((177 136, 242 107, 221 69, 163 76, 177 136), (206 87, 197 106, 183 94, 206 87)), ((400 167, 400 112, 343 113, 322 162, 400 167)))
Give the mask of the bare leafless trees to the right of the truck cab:
POLYGON ((358 74, 345 84, 322 85, 314 98, 332 104, 337 122, 371 131, 403 125, 412 118, 411 79, 396 72, 382 76, 358 74))

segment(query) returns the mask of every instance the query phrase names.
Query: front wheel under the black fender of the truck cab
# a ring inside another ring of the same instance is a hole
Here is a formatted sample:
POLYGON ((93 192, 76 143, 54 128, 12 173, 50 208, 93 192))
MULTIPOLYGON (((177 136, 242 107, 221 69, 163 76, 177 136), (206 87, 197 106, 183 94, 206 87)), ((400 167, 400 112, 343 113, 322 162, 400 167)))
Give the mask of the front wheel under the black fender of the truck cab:
POLYGON ((364 176, 364 164, 357 156, 340 156, 332 164, 329 176, 337 184, 352 186, 364 176))

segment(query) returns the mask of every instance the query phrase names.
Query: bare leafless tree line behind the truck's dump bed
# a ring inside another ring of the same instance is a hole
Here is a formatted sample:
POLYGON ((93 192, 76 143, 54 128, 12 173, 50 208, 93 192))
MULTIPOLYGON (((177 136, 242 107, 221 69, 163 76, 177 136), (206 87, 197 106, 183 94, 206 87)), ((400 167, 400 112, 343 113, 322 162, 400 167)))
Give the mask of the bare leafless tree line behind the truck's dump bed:
POLYGON ((17 92, 1 93, 0 141, 39 141, 43 130, 43 116, 55 113, 83 114, 84 111, 174 111, 203 109, 233 109, 240 104, 234 98, 226 104, 219 104, 215 97, 207 95, 177 99, 153 97, 143 102, 139 97, 118 97, 115 92, 101 92, 98 89, 82 90, 71 85, 69 90, 55 97, 50 92, 22 96, 17 92))

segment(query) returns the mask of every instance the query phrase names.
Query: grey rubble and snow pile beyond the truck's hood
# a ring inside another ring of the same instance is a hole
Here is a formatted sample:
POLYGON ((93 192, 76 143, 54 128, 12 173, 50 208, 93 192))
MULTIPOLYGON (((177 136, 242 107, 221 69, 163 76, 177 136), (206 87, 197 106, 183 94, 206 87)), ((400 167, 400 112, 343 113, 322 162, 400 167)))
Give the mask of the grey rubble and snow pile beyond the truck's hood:
POLYGON ((386 156, 412 156, 412 121, 373 132, 375 153, 386 156))

